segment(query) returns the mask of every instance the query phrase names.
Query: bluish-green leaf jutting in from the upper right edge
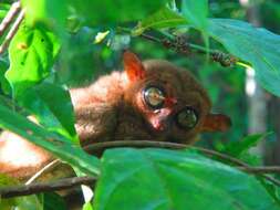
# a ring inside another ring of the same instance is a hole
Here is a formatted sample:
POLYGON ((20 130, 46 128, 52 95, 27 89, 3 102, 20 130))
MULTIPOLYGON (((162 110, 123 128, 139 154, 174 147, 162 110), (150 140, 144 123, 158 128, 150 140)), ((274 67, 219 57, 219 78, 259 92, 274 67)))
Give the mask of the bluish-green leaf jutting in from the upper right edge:
POLYGON ((208 30, 231 54, 252 65, 262 87, 280 96, 279 35, 230 19, 209 19, 208 30))

